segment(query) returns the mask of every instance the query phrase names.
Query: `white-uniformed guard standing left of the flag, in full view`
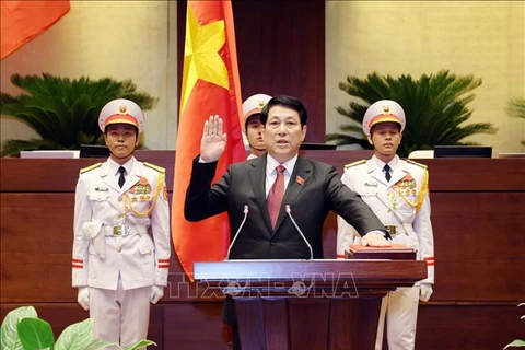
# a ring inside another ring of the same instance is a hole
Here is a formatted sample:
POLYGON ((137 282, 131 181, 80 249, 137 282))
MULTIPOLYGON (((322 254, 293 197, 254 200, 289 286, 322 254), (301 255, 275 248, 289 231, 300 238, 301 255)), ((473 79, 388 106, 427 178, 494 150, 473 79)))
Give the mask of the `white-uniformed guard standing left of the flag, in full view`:
POLYGON ((155 304, 167 284, 165 171, 133 156, 144 126, 136 103, 107 103, 98 126, 110 156, 80 171, 72 285, 79 289, 79 304, 90 311, 95 336, 126 346, 147 339, 150 302, 155 304))

